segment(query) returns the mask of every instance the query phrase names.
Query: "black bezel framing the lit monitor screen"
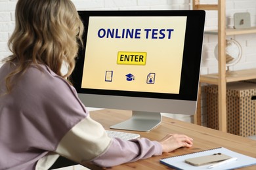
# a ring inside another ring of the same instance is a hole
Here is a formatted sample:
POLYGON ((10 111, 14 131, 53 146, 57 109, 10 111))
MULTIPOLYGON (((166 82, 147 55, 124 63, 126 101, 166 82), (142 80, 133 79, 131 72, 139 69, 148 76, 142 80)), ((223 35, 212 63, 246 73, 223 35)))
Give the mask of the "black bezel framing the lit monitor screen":
POLYGON ((70 76, 70 80, 74 84, 77 93, 186 101, 197 100, 205 21, 204 10, 83 10, 78 11, 78 13, 85 26, 85 33, 83 34, 84 47, 79 48, 75 69, 70 76), (175 94, 81 88, 87 41, 87 24, 91 16, 186 16, 187 24, 182 59, 180 92, 175 94))

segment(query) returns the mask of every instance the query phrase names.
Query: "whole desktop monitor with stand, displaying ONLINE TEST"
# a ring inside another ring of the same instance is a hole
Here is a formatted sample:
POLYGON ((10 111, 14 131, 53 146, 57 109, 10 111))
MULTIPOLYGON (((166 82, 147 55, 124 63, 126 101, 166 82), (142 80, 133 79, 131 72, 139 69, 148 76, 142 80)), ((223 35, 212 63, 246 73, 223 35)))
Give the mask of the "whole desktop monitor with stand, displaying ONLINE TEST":
POLYGON ((114 129, 149 131, 161 112, 196 112, 203 10, 79 11, 72 82, 86 107, 133 110, 114 129))

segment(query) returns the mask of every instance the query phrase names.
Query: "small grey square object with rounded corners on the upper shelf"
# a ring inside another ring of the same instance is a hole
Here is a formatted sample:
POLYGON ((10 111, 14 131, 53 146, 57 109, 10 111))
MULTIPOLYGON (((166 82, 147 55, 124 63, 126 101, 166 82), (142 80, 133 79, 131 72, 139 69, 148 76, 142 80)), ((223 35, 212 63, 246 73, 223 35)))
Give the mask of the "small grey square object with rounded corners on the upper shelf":
POLYGON ((234 14, 234 29, 245 29, 251 27, 251 17, 249 12, 234 14))

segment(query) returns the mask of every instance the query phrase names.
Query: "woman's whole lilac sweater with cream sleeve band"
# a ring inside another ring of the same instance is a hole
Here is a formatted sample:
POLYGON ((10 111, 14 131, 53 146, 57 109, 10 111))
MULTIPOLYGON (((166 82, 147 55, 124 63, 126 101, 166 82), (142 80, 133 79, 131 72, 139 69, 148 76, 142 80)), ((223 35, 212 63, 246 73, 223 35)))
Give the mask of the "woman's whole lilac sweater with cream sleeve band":
POLYGON ((110 139, 74 87, 45 65, 14 77, 4 95, 13 67, 0 68, 0 170, 48 169, 59 155, 108 167, 161 154, 156 141, 110 139))

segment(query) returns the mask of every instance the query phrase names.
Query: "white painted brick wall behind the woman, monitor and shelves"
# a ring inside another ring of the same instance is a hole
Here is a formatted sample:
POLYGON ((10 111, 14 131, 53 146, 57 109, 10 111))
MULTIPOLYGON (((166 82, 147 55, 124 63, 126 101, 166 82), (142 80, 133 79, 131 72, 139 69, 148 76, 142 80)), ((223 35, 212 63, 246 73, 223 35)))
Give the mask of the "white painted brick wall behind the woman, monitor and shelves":
MULTIPOLYGON (((77 10, 179 10, 191 9, 191 0, 73 0, 77 10)), ((217 3, 217 0, 201 0, 202 3, 217 3)), ((14 29, 14 10, 16 0, 0 0, 0 59, 8 56, 7 41, 14 29)), ((251 25, 256 25, 255 0, 226 0, 226 18, 228 27, 233 25, 235 12, 250 12, 251 25)), ((217 29, 217 12, 207 11, 205 29, 217 29)), ((256 34, 236 35, 240 42, 243 56, 240 62, 231 70, 249 69, 256 67, 256 34)), ((217 73, 217 59, 214 48, 217 44, 216 35, 205 35, 203 43, 203 58, 201 74, 217 73)), ((1 66, 1 64, 0 64, 1 66)), ((202 94, 202 114, 205 114, 205 94, 202 94)), ((182 115, 173 115, 175 118, 190 122, 191 118, 182 115)), ((204 119, 203 119, 204 122, 204 119)))

